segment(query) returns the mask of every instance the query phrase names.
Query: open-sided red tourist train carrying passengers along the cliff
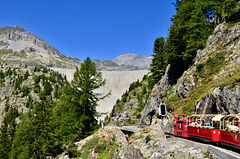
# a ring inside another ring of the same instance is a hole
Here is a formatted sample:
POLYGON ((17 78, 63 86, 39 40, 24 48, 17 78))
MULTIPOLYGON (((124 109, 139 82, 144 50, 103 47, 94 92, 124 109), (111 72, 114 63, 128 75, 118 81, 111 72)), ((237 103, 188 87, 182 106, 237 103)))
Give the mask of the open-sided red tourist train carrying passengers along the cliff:
POLYGON ((198 138, 240 149, 240 115, 174 116, 174 135, 198 138))

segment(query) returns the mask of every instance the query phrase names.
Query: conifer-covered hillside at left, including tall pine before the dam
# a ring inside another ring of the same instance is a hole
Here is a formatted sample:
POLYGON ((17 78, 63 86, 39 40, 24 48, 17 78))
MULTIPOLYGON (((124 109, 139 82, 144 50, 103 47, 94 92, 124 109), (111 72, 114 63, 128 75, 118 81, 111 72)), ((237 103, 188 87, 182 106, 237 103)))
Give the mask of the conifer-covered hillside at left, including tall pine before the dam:
MULTIPOLYGON (((76 155, 74 142, 98 128, 97 101, 93 91, 105 84, 101 72, 87 58, 68 83, 61 74, 46 68, 0 71, 1 86, 13 87, 5 94, 0 129, 1 158, 46 158, 63 151, 76 155), (10 84, 9 84, 10 83, 10 84), (25 100, 16 105, 10 99, 25 100)), ((3 103, 3 101, 1 101, 3 103)))

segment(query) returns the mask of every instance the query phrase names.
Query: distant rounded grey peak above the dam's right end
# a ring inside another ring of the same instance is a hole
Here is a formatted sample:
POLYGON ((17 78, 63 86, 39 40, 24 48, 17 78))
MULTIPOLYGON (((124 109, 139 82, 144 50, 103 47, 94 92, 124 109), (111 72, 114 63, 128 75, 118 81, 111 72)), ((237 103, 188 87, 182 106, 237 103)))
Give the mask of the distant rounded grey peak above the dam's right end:
POLYGON ((147 70, 152 63, 152 56, 140 56, 136 54, 122 54, 115 58, 113 62, 121 67, 136 67, 140 70, 147 70))

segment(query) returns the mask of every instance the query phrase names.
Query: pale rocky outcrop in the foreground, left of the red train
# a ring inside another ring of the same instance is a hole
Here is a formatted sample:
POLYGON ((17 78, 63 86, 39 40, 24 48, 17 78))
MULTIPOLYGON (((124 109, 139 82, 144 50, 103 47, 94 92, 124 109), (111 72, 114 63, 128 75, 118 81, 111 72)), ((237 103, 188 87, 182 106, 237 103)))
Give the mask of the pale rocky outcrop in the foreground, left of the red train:
POLYGON ((150 127, 130 137, 129 143, 118 149, 114 158, 204 158, 204 152, 190 143, 166 138, 160 126, 160 120, 155 120, 150 127))

